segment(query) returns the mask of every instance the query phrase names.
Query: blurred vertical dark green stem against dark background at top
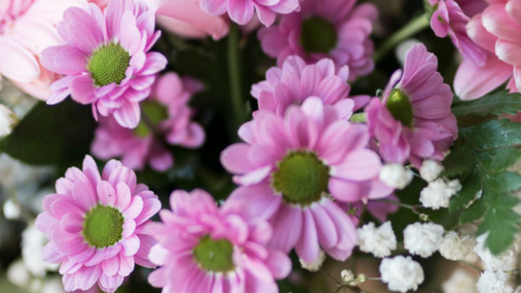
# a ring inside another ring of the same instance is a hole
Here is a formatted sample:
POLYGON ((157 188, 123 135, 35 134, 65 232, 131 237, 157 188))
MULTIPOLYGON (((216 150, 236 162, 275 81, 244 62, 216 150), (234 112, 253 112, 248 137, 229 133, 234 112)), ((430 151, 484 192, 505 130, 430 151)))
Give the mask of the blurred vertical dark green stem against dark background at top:
POLYGON ((241 88, 241 69, 239 62, 239 27, 230 26, 228 35, 228 77, 230 80, 230 96, 232 109, 232 138, 237 138, 237 130, 244 122, 245 109, 241 88))

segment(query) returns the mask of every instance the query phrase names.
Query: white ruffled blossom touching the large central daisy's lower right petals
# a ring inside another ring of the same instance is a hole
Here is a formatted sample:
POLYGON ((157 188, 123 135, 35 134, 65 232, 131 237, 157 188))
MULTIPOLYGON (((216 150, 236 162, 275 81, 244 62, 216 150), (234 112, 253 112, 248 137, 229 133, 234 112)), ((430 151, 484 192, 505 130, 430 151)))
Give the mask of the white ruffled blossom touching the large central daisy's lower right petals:
POLYGON ((360 250, 373 253, 377 258, 388 257, 396 249, 396 236, 389 221, 378 228, 375 223, 366 224, 356 229, 356 234, 360 250))

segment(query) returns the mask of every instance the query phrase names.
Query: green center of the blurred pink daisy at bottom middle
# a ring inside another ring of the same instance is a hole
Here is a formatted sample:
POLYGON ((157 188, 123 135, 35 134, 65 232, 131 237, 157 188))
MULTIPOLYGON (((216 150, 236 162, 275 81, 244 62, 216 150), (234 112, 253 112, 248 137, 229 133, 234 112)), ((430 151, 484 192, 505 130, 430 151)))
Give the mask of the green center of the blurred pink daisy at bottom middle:
POLYGON ((194 248, 193 255, 204 270, 226 273, 233 271, 233 245, 226 239, 214 240, 204 236, 194 248))

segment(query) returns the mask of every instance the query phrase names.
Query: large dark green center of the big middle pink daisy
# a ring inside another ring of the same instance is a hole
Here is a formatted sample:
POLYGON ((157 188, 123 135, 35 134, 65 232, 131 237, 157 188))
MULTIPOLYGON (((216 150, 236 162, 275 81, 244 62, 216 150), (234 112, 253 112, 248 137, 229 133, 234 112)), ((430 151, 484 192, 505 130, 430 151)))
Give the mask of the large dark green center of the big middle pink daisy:
POLYGON ((329 167, 315 153, 292 152, 279 162, 271 182, 286 202, 308 205, 327 192, 329 167))

